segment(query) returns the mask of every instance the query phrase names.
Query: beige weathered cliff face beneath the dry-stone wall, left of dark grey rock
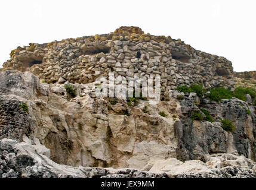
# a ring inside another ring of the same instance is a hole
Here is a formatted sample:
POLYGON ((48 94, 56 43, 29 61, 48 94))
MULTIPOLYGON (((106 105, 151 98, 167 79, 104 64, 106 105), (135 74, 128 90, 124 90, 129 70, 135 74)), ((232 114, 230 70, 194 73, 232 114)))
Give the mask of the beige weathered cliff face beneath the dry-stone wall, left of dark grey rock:
POLYGON ((111 105, 108 99, 95 97, 94 84, 74 84, 81 96, 70 99, 63 84, 39 83, 29 72, 2 72, 0 83, 5 91, 0 94, 1 103, 10 106, 9 102, 15 102, 17 109, 8 114, 15 112, 20 117, 12 124, 13 118, 3 112, 1 138, 36 137, 50 148, 50 158, 57 163, 143 169, 153 160, 176 157, 174 120, 158 115, 159 109, 175 113, 175 102, 149 105, 141 100, 138 106, 129 107, 126 101, 118 100, 111 105), (29 113, 19 108, 21 102, 27 102, 29 113), (148 113, 143 112, 145 105, 148 113), (123 110, 129 115, 121 115, 123 110), (6 132, 11 129, 19 131, 6 132))

